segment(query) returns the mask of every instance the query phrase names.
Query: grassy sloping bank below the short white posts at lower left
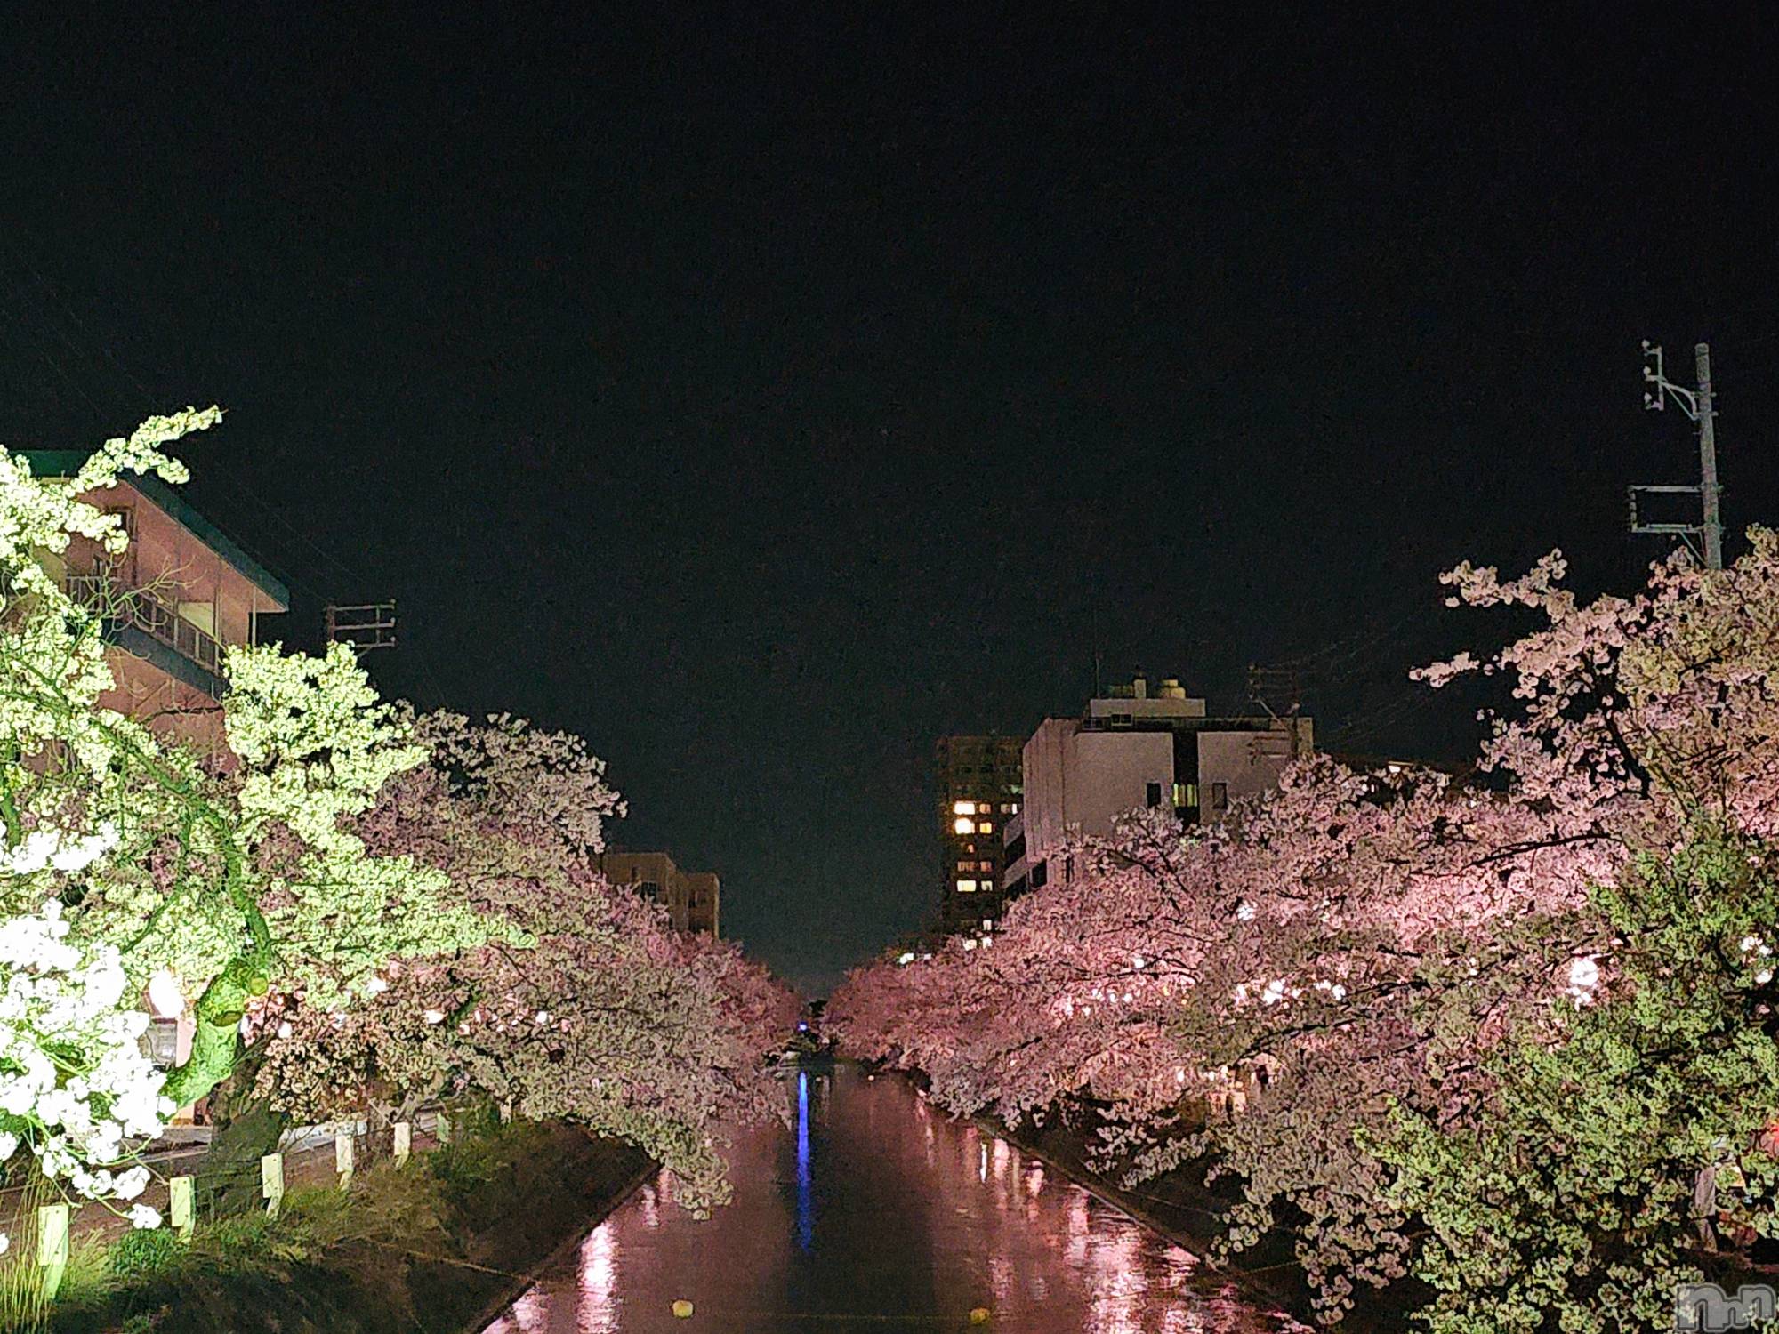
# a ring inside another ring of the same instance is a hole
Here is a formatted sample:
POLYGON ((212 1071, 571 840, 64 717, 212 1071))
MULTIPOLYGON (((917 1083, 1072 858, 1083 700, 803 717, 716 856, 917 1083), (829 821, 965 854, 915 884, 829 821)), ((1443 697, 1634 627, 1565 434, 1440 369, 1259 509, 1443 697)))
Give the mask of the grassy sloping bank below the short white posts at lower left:
POLYGON ((568 1126, 511 1126, 272 1220, 137 1233, 71 1265, 53 1334, 475 1334, 655 1174, 568 1126), (153 1238, 153 1240, 142 1240, 153 1238))

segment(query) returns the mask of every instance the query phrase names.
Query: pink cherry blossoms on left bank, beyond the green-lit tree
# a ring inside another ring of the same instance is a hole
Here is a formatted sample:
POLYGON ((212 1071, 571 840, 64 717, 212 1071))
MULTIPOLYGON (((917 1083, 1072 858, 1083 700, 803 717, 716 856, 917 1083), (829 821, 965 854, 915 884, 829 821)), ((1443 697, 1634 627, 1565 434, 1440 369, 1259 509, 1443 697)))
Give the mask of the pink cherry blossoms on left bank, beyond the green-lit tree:
POLYGON ((391 784, 366 838, 445 872, 525 944, 393 960, 352 1009, 274 996, 254 1014, 258 1094, 302 1117, 395 1121, 475 1092, 632 1140, 688 1201, 724 1199, 724 1128, 772 1110, 763 1055, 795 1000, 737 946, 672 932, 592 873, 621 806, 578 740, 452 715, 416 735, 434 763, 391 784))

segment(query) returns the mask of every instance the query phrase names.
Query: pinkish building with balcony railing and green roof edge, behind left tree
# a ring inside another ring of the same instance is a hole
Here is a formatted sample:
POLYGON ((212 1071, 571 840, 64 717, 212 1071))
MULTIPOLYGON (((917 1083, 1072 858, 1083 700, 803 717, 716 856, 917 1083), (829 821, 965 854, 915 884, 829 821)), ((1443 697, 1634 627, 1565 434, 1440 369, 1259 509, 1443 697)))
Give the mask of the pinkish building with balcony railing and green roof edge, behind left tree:
MULTIPOLYGON (((37 477, 71 477, 80 450, 27 452, 37 477)), ((290 589, 178 491, 135 477, 82 496, 123 519, 130 546, 110 555, 75 537, 43 555, 52 576, 105 610, 117 685, 100 703, 190 742, 222 749, 222 649, 258 642, 258 621, 290 608, 290 589)))

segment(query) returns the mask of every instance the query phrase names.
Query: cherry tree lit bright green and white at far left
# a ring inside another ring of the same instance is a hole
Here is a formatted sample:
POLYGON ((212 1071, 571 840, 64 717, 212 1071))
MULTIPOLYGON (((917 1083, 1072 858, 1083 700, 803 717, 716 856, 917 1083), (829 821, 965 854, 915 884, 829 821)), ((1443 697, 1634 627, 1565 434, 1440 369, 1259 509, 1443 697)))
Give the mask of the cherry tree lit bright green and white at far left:
POLYGON ((0 920, 20 939, 66 936, 71 952, 9 952, 7 994, 53 991, 59 1001, 9 1007, 12 1051, 36 1042, 55 1074, 52 1085, 41 1064, 0 1058, 23 1108, 4 1129, 76 1185, 109 1181, 103 1163, 75 1176, 78 1117, 98 1117, 89 1149, 158 1131, 174 1106, 228 1076, 242 1014, 274 982, 345 1001, 382 960, 464 948, 489 928, 438 896, 443 875, 370 856, 347 827, 427 751, 343 646, 322 658, 276 646, 228 653, 238 761, 228 772, 100 706, 112 687, 107 608, 69 596, 41 557, 75 537, 123 551, 117 516, 80 496, 130 473, 183 482, 164 446, 219 418, 213 407, 151 418, 71 478, 34 477, 0 450, 0 920), (137 998, 160 975, 194 998, 197 1021, 190 1058, 165 1076, 117 1055, 123 1028, 139 1023, 137 998), (96 1046, 69 1044, 75 1032, 96 1046), (101 1090, 98 1071, 137 1083, 101 1090))

